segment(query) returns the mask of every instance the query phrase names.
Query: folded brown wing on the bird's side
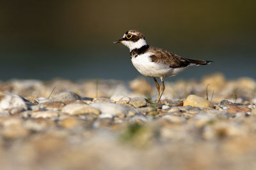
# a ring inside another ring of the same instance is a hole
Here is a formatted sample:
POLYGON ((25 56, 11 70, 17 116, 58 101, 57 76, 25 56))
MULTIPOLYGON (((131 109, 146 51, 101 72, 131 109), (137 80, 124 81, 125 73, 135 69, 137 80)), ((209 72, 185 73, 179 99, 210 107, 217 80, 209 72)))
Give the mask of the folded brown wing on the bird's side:
POLYGON ((162 63, 173 68, 186 67, 191 63, 189 60, 184 59, 175 53, 168 52, 167 50, 156 48, 154 46, 150 46, 147 52, 154 53, 154 55, 150 56, 153 62, 162 63))

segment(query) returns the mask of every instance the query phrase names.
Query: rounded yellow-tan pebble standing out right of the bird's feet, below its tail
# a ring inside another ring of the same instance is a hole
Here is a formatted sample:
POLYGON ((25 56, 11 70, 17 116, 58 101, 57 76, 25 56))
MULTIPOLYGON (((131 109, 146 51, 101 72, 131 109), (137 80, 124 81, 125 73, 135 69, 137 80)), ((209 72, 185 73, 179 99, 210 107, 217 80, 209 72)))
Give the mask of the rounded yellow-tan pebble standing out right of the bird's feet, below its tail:
POLYGON ((193 106, 199 108, 212 108, 212 104, 207 101, 204 97, 196 96, 196 95, 189 95, 184 101, 183 106, 193 106))

